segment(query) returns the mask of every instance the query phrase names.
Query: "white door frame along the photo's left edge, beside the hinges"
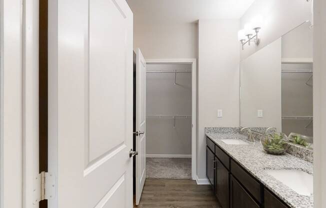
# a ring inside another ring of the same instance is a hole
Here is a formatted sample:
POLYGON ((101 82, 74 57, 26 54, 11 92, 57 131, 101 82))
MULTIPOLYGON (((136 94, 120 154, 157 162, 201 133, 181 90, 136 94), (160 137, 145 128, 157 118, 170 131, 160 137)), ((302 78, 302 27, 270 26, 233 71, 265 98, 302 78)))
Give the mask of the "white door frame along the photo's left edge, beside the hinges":
POLYGON ((0 21, 0 208, 36 208, 38 0, 0 0, 0 21))

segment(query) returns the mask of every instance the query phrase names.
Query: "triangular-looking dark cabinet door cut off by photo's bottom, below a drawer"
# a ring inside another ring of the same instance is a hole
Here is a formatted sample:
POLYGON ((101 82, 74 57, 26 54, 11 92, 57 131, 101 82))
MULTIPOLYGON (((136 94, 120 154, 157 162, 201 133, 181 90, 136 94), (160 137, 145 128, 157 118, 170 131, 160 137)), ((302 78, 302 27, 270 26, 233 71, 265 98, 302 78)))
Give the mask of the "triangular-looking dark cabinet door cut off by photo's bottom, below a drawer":
POLYGON ((242 188, 240 183, 231 175, 231 206, 230 208, 259 208, 259 205, 242 188))

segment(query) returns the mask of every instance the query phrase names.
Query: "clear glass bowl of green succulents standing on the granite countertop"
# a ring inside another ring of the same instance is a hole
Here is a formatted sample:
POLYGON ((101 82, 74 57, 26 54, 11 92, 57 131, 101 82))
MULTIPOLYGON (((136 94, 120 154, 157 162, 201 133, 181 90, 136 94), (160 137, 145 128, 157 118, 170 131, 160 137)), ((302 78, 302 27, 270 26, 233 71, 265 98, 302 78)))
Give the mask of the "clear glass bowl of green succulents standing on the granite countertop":
POLYGON ((287 148, 287 136, 281 132, 275 132, 260 137, 262 148, 269 154, 283 154, 287 148))

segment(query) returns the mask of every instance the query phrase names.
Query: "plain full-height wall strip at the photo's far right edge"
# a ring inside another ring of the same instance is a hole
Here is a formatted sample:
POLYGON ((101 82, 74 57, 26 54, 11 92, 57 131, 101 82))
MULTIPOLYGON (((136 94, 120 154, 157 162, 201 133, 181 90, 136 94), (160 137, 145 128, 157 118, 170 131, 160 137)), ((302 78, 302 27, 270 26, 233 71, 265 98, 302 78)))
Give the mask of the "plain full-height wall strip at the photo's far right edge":
POLYGON ((326 207, 326 1, 314 0, 313 135, 314 207, 326 207))

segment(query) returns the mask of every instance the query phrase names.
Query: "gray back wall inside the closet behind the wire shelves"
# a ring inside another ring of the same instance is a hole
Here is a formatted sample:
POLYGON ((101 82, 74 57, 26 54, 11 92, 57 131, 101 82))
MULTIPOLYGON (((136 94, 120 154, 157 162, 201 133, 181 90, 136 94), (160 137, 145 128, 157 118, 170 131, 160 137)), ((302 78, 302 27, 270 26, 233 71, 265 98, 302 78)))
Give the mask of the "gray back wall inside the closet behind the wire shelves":
MULTIPOLYGON (((147 64, 150 69, 190 69, 191 64, 147 64)), ((190 115, 191 73, 147 73, 147 116, 190 115)), ((191 118, 146 119, 147 154, 191 154, 191 118)))

